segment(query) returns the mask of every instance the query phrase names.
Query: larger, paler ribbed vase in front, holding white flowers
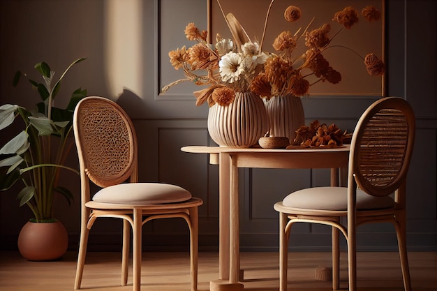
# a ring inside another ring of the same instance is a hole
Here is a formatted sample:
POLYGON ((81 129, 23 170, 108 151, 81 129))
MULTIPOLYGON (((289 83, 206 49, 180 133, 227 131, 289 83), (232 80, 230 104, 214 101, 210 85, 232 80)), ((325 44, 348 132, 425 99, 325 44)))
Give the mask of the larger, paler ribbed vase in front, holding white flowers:
POLYGON ((208 131, 223 147, 248 148, 269 130, 264 102, 251 92, 237 92, 228 106, 214 104, 208 112, 208 131))

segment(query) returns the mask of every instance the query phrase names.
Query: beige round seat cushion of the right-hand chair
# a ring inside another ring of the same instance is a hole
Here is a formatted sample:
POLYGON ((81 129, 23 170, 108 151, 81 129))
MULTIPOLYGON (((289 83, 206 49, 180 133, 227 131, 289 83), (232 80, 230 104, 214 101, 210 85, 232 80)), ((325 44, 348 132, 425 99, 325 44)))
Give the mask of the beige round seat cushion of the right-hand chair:
MULTIPOLYGON (((314 187, 291 193, 284 198, 283 206, 300 209, 347 210, 348 188, 346 187, 314 187)), ((357 189, 357 209, 385 209, 394 207, 390 196, 375 197, 357 189)))

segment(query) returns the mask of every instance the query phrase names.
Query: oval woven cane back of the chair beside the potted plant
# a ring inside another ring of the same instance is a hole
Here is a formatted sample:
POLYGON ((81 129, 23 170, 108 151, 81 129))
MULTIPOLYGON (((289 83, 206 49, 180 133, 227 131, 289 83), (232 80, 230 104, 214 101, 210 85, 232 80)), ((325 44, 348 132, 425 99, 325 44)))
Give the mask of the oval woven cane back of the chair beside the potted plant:
POLYGON ((131 119, 119 105, 106 98, 87 98, 78 106, 75 137, 84 172, 101 187, 126 181, 137 167, 131 119))

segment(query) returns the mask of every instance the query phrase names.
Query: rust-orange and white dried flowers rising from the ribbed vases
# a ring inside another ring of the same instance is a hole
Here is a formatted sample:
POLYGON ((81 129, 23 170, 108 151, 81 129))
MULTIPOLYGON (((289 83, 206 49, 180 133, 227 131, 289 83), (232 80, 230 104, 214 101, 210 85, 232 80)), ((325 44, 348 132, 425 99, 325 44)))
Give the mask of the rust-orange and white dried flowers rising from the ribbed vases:
MULTIPOLYGON (((195 44, 188 49, 184 46, 169 52, 170 63, 176 70, 182 69, 185 78, 163 87, 163 93, 175 84, 193 82, 198 86, 206 86, 205 89, 193 93, 197 98, 196 105, 207 103, 209 107, 215 104, 226 107, 234 102, 239 92, 253 92, 267 102, 274 96, 309 96, 309 88, 318 82, 341 82, 341 73, 330 66, 323 53, 333 48, 355 52, 350 47, 333 43, 343 29, 350 29, 358 22, 360 13, 355 8, 348 6, 335 13, 332 18, 333 25, 325 23, 321 27, 312 28, 313 18, 306 27, 298 28, 295 33, 283 31, 272 44, 274 52, 267 52, 262 50, 262 45, 274 0, 267 10, 260 42, 251 40, 235 16, 232 13, 225 15, 220 1, 217 0, 217 3, 233 39, 217 34, 216 43, 213 45, 208 42, 207 31, 200 31, 194 23, 188 24, 185 29, 186 38, 195 41, 195 44), (332 33, 334 25, 339 26, 339 29, 332 33), (303 53, 295 51, 299 41, 304 42, 306 47, 303 53)), ((381 16, 374 6, 366 6, 361 12, 369 22, 379 20, 381 16)), ((301 15, 300 8, 288 6, 284 18, 287 22, 297 22, 301 15)), ((362 58, 370 75, 385 73, 385 65, 376 54, 370 52, 365 57, 357 55, 362 58)), ((302 124, 303 117, 299 126, 302 124)), ((297 140, 293 143, 295 142, 297 140)))

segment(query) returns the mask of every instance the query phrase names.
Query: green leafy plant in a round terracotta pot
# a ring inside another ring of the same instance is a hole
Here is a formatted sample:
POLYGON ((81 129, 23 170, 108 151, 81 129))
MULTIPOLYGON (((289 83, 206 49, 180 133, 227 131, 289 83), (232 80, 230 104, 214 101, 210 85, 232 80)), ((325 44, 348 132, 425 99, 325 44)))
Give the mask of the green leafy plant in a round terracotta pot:
MULTIPOLYGON (((16 117, 24 122, 24 129, 0 149, 0 191, 10 189, 17 181, 24 188, 17 194, 20 207, 27 205, 34 214, 24 225, 18 237, 18 248, 28 260, 54 260, 64 255, 68 246, 68 234, 64 225, 53 217, 54 195, 59 193, 71 204, 73 195, 67 188, 58 185, 61 169, 78 173, 66 167, 64 162, 73 140, 68 140, 73 128, 75 105, 87 96, 87 90, 73 92, 66 109, 53 106, 54 98, 61 88, 61 80, 71 66, 83 61, 77 59, 66 68, 59 80, 54 80, 54 72, 45 62, 34 66, 43 78, 43 82, 29 79, 32 87, 38 91, 40 103, 28 110, 20 105, 0 106, 0 130, 6 128, 16 117), (43 233, 45 229, 58 234, 43 233), (43 241, 39 241, 41 237, 43 241), (48 248, 45 254, 43 248, 48 248)), ((14 77, 14 87, 22 74, 18 71, 14 77)))

